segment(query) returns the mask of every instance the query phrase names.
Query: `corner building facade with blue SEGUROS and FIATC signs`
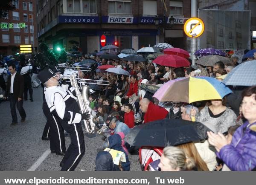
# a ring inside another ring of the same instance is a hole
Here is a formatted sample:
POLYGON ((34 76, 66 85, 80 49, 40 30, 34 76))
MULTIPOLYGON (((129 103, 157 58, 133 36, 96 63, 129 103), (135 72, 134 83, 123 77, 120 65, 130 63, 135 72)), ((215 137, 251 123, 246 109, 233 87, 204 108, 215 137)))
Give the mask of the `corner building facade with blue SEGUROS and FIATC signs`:
POLYGON ((183 24, 190 17, 190 0, 37 0, 38 41, 69 51, 78 43, 83 53, 117 41, 119 49, 140 49, 167 42, 186 49, 183 24), (169 22, 175 18, 174 25, 169 22), (160 17, 160 24, 154 24, 160 17))

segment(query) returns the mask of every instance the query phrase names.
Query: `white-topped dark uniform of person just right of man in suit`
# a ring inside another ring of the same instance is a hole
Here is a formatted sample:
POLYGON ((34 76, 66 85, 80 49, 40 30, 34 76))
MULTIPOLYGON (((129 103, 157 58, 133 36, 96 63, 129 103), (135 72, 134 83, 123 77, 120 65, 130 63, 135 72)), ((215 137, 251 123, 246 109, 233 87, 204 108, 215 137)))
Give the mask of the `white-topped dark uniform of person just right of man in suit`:
POLYGON ((20 75, 22 75, 24 79, 24 100, 28 99, 28 90, 30 100, 33 99, 33 90, 31 86, 31 77, 29 75, 29 70, 32 70, 31 64, 22 67, 20 70, 20 75))

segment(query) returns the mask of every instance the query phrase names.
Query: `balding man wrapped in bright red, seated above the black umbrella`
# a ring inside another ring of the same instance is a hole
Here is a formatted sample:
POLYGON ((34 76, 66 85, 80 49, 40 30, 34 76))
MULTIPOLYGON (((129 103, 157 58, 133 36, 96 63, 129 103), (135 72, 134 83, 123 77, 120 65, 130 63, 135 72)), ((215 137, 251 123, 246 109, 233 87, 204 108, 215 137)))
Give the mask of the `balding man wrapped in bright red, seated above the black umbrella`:
POLYGON ((140 100, 140 110, 145 113, 144 123, 165 119, 168 114, 165 108, 153 104, 148 98, 140 100))

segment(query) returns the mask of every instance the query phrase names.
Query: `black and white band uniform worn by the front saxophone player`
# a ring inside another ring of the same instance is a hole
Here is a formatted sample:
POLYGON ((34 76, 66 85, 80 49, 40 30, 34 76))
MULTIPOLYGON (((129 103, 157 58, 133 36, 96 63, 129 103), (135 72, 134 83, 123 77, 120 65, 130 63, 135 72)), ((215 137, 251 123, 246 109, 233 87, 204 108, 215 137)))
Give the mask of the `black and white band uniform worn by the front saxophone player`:
POLYGON ((76 96, 73 95, 71 87, 65 91, 60 86, 47 87, 45 99, 50 112, 60 118, 61 126, 70 134, 71 144, 68 147, 62 163, 61 171, 73 171, 79 164, 84 155, 84 134, 80 124, 81 114, 76 102, 76 96))

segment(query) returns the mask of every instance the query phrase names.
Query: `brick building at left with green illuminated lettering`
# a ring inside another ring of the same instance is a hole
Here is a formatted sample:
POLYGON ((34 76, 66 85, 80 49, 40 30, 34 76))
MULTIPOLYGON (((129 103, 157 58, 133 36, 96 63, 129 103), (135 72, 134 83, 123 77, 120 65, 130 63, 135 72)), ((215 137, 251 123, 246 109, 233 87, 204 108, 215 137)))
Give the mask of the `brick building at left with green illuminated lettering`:
POLYGON ((35 0, 13 0, 16 9, 0 19, 0 54, 15 55, 20 45, 32 45, 37 50, 37 21, 35 0))

